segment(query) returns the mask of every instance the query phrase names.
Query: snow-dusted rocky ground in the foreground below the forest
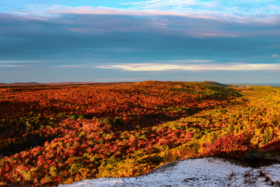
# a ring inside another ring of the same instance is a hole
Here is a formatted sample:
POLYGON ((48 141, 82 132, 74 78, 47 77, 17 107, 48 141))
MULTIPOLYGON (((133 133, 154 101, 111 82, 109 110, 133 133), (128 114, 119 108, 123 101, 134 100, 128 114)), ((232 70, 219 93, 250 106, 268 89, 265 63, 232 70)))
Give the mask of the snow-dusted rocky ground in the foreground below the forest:
POLYGON ((252 169, 217 158, 171 162, 138 177, 82 180, 59 187, 280 186, 280 164, 252 169))

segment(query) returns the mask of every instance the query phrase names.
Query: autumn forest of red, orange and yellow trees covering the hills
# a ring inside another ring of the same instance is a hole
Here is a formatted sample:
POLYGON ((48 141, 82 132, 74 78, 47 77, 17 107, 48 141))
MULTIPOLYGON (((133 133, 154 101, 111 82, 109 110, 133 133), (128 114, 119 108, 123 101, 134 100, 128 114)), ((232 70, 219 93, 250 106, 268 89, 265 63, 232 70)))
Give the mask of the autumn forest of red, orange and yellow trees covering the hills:
POLYGON ((143 81, 0 87, 0 185, 145 174, 203 156, 279 161, 280 88, 143 81))

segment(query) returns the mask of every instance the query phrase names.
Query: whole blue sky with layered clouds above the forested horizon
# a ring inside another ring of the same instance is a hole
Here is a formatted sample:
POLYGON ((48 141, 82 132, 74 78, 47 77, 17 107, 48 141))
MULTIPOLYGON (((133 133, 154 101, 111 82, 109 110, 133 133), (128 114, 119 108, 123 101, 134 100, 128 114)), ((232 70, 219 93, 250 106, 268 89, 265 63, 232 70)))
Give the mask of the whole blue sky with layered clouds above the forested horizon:
POLYGON ((0 83, 280 83, 278 0, 0 0, 0 83))

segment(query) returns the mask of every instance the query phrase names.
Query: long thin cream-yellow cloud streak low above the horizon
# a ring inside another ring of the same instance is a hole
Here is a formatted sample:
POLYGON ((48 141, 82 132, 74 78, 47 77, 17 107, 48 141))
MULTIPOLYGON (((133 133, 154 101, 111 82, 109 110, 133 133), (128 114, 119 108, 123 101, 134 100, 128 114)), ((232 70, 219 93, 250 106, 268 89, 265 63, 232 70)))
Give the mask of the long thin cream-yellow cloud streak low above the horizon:
POLYGON ((199 65, 176 65, 176 64, 118 64, 100 65, 97 68, 122 69, 125 71, 199 71, 199 70, 280 70, 280 64, 199 64, 199 65))

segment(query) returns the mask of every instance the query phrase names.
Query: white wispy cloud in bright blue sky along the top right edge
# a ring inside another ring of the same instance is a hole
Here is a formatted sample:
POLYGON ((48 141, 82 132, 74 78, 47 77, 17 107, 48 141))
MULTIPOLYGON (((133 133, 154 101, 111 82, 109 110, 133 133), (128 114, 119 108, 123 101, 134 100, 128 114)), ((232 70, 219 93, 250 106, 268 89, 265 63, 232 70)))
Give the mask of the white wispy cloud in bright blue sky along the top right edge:
POLYGON ((278 13, 279 4, 275 1, 203 1, 203 0, 147 0, 124 2, 133 10, 164 10, 172 12, 215 12, 220 14, 260 14, 278 13))

